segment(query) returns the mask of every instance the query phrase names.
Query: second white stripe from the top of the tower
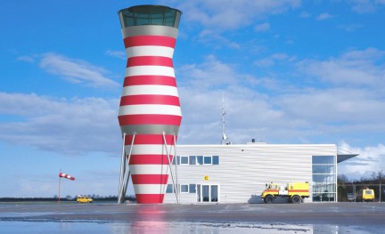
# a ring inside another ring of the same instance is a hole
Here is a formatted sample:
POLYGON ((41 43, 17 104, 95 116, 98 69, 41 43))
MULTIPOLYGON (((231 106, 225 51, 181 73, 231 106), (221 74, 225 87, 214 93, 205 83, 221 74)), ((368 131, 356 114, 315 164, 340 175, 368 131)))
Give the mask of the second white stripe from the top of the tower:
POLYGON ((126 69, 126 77, 132 76, 167 76, 175 77, 174 68, 165 66, 134 66, 126 69))

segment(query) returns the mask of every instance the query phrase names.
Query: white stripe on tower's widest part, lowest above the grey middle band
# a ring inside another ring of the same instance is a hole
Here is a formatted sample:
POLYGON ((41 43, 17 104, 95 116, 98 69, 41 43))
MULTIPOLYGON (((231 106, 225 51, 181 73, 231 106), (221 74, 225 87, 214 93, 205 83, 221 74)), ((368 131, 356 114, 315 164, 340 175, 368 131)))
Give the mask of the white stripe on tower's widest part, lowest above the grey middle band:
POLYGON ((179 106, 172 105, 127 105, 119 107, 119 117, 125 115, 171 115, 182 116, 179 106))

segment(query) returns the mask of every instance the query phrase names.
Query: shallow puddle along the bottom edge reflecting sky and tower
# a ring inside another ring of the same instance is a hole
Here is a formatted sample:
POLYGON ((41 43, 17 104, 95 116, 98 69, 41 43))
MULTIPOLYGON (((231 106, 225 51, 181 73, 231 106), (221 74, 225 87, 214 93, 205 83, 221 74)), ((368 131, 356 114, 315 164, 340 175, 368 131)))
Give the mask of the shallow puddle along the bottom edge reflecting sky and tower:
POLYGON ((382 233, 383 227, 248 222, 36 222, 1 221, 1 233, 382 233))

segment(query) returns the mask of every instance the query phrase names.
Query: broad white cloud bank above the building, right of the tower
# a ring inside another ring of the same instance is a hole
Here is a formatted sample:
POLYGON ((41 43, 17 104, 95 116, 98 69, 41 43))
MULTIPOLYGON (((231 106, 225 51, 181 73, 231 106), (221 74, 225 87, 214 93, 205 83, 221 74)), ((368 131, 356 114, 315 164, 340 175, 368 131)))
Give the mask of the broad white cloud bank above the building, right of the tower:
POLYGON ((296 62, 285 53, 267 59, 268 66, 287 62, 296 69, 295 76, 254 77, 214 56, 179 69, 184 111, 180 139, 219 142, 222 93, 228 109, 227 134, 238 143, 259 138, 287 143, 348 139, 362 144, 375 142, 385 131, 381 51, 349 51, 325 61, 296 62), (373 137, 368 140, 365 134, 373 137))

